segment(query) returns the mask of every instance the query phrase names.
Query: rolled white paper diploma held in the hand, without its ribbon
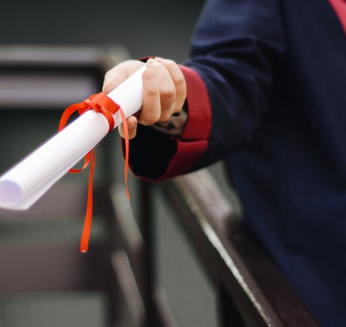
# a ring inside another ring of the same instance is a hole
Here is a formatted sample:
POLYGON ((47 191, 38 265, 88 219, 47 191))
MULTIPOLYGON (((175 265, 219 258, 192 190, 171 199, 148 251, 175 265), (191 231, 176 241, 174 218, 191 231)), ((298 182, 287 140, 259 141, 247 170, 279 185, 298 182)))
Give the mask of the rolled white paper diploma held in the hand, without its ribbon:
MULTIPOLYGON (((142 107, 142 73, 145 66, 108 94, 126 117, 142 107)), ((122 123, 120 112, 115 126, 122 123)), ((88 110, 41 147, 0 176, 0 208, 26 210, 78 163, 109 130, 103 114, 88 110)))

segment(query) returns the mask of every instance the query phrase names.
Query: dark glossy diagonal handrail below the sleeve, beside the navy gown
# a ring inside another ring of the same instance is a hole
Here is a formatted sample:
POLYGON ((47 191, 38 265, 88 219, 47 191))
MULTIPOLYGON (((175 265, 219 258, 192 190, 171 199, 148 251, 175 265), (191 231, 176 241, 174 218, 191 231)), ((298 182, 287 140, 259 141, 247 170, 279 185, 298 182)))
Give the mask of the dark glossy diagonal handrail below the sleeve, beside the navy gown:
POLYGON ((207 170, 164 188, 219 292, 221 326, 318 326, 207 170))

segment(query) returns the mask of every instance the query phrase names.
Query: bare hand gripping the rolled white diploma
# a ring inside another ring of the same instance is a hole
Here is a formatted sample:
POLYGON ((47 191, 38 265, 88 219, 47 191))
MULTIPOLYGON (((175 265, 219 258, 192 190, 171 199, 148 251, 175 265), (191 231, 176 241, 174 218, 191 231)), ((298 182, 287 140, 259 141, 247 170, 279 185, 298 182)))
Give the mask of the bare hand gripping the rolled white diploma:
MULTIPOLYGON (((129 60, 116 65, 106 73, 102 91, 108 94, 144 64, 147 69, 142 75, 143 107, 127 119, 130 139, 136 135, 137 122, 149 126, 167 121, 182 109, 186 98, 186 83, 180 68, 174 61, 159 57, 146 63, 129 60)), ((124 138, 123 124, 119 126, 119 134, 124 138)))

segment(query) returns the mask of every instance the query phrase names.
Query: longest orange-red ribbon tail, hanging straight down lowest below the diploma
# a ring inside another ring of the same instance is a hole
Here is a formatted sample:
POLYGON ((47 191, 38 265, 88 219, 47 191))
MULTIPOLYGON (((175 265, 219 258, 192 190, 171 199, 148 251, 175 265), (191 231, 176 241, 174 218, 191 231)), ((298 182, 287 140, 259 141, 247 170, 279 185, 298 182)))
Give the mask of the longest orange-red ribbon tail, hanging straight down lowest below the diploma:
POLYGON ((92 149, 92 159, 90 165, 89 186, 87 191, 87 213, 84 220, 82 238, 81 238, 81 252, 86 253, 89 244, 91 222, 92 222, 92 178, 95 165, 95 150, 92 149))

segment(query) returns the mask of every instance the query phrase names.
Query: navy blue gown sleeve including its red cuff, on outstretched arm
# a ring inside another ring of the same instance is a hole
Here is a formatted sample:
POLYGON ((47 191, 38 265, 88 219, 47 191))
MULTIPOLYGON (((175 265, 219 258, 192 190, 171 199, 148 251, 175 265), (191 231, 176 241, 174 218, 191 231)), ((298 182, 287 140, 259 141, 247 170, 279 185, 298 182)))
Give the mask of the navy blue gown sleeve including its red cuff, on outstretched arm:
POLYGON ((207 1, 181 67, 188 121, 181 138, 140 127, 131 141, 134 174, 160 180, 224 158, 251 139, 269 107, 284 54, 278 0, 207 1))

